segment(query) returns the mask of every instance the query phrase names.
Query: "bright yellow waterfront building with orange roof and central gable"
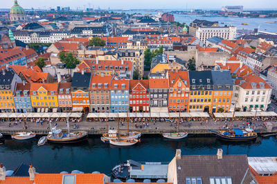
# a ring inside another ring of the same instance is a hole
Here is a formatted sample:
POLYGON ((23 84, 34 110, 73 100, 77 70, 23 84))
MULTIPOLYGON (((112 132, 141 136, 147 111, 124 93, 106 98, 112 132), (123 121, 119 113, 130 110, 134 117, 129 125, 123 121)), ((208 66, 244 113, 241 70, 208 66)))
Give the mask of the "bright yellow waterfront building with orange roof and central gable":
POLYGON ((57 83, 31 83, 30 101, 35 112, 57 112, 57 83))

